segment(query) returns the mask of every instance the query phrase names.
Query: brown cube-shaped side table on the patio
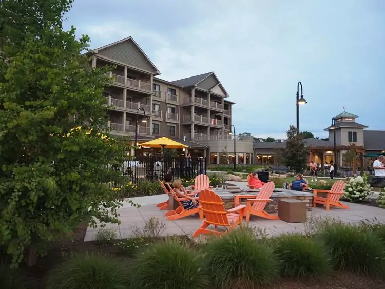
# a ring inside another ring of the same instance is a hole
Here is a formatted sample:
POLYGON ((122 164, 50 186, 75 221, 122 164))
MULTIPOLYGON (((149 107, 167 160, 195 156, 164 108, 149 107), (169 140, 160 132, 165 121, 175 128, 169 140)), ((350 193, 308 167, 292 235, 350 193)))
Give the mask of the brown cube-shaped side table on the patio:
POLYGON ((279 219, 287 223, 305 223, 307 220, 306 203, 300 200, 279 200, 279 219))

